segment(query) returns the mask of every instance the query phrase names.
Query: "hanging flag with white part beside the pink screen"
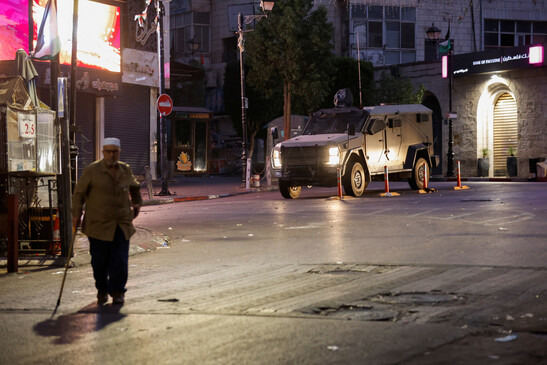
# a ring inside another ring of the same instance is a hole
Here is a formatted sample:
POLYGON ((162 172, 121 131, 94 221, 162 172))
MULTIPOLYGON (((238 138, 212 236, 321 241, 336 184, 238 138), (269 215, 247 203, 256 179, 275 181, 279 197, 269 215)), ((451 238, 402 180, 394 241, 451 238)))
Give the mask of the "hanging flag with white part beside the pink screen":
POLYGON ((34 58, 50 60, 61 52, 61 39, 57 28, 56 0, 48 0, 47 2, 37 39, 34 58))

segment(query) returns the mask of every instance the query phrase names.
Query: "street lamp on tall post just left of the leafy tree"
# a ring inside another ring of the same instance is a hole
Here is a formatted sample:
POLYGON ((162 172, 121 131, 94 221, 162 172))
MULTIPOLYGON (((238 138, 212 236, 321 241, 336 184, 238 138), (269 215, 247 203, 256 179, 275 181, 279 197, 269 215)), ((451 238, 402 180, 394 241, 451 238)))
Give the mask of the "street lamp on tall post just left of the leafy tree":
MULTIPOLYGON (((272 11, 275 5, 275 1, 260 1, 260 7, 266 13, 272 11)), ((251 187, 251 160, 247 157, 247 108, 248 101, 245 97, 245 69, 243 67, 243 51, 245 51, 245 39, 243 34, 251 32, 252 29, 243 29, 244 25, 251 24, 254 20, 267 17, 266 14, 258 15, 242 15, 237 16, 237 34, 239 35, 237 40, 237 47, 239 48, 239 72, 241 75, 241 128, 242 128, 242 142, 241 142, 241 163, 243 168, 243 174, 245 175, 245 189, 251 187)))

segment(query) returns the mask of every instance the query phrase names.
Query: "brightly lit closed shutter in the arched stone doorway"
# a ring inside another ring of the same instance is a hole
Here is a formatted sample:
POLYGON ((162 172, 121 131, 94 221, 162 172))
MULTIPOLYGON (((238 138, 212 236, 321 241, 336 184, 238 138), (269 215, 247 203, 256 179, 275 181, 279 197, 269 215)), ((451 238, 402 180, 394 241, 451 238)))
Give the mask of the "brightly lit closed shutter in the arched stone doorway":
POLYGON ((501 95, 494 106, 494 176, 507 175, 509 148, 518 145, 517 103, 509 93, 501 95))

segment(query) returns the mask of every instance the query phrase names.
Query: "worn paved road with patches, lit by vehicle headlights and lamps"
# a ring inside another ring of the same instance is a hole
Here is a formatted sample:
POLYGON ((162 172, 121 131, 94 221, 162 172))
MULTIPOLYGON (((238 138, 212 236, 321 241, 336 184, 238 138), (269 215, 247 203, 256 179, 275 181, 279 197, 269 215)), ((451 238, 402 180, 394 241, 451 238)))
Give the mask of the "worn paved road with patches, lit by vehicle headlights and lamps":
POLYGON ((0 278, 0 363, 545 363, 547 185, 468 185, 145 207, 171 244, 121 308, 88 266, 54 317, 62 270, 0 278))

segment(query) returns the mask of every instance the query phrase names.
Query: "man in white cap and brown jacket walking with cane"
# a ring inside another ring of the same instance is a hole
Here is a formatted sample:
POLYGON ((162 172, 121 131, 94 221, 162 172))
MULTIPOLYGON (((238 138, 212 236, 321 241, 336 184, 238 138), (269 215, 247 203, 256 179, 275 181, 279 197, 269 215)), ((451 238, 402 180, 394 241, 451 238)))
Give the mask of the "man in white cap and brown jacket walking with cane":
POLYGON ((103 141, 103 158, 84 169, 72 197, 72 224, 78 227, 85 210, 82 232, 89 239, 97 303, 112 296, 123 304, 133 219, 139 214, 140 186, 128 164, 119 161, 118 138, 103 141), (85 206, 84 206, 85 204, 85 206))

